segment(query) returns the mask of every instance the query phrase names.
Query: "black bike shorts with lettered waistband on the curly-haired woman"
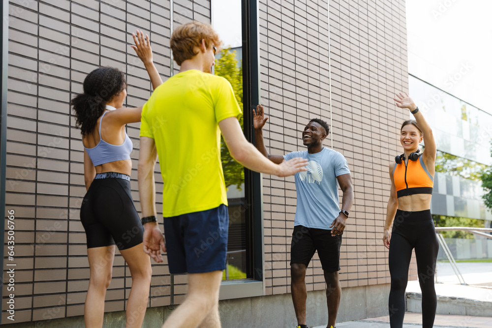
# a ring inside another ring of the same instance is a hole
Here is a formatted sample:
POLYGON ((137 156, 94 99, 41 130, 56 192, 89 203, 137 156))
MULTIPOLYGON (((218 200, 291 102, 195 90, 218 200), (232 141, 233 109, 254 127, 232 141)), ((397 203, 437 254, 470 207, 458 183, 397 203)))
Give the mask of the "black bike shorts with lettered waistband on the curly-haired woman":
POLYGON ((124 174, 96 174, 82 201, 80 220, 87 248, 116 244, 122 250, 143 241, 144 228, 133 205, 130 177, 124 174))

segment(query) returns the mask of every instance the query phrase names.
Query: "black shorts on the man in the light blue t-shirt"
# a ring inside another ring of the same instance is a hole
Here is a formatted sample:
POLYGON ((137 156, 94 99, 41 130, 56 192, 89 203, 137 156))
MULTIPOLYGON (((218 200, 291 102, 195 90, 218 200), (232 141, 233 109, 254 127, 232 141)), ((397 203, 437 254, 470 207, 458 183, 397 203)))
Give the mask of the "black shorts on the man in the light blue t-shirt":
POLYGON ((290 247, 290 265, 304 264, 306 267, 318 251, 321 267, 324 271, 340 270, 341 235, 332 237, 332 230, 294 226, 290 247))

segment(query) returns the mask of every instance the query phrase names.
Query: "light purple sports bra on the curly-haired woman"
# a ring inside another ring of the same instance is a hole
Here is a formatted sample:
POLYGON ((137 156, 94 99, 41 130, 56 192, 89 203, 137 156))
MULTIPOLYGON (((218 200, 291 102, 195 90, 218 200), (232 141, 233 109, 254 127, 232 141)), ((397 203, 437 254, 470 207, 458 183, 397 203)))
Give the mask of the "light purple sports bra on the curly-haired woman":
MULTIPOLYGON (((116 108, 106 105, 106 109, 115 110, 116 108)), ((84 147, 89 157, 91 157, 92 164, 94 164, 94 166, 120 161, 123 159, 130 159, 130 153, 133 150, 133 143, 126 134, 126 131, 124 133, 125 138, 123 144, 121 145, 112 145, 102 140, 101 123, 102 118, 106 113, 106 111, 102 113, 101 119, 99 119, 99 143, 94 148, 84 147)))

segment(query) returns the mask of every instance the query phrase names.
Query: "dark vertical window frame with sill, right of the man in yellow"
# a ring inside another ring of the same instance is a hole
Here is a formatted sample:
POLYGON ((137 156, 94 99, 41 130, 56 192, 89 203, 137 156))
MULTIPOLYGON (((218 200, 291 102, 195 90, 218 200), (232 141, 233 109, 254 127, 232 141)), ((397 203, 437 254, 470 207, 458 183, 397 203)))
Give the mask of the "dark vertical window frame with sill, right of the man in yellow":
MULTIPOLYGON (((214 1, 212 1, 212 6, 214 1)), ((251 111, 260 103, 258 0, 241 0, 244 134, 254 143, 251 111)), ((251 278, 222 281, 220 299, 265 295, 262 174, 245 168, 246 268, 251 278)))

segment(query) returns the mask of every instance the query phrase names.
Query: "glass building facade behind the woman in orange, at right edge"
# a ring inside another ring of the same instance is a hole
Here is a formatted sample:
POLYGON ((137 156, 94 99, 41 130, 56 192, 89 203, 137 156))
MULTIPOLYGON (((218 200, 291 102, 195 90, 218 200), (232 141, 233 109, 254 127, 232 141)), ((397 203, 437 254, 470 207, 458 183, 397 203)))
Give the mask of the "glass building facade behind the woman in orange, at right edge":
POLYGON ((480 174, 492 163, 492 115, 413 76, 409 89, 437 146, 432 214, 490 218, 480 174))

